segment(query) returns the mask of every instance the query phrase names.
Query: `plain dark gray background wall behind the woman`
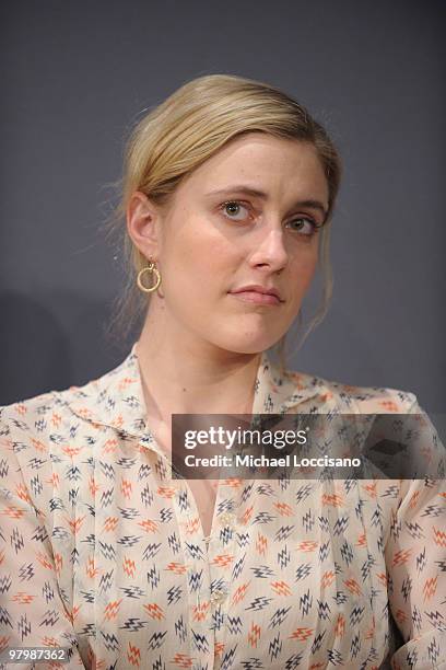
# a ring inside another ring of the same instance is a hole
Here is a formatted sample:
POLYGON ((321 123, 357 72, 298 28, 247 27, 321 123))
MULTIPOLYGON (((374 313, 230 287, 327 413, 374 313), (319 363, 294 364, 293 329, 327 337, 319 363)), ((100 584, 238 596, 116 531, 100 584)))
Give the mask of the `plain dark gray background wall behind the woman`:
POLYGON ((412 391, 444 412, 441 2, 19 0, 0 11, 0 404, 85 383, 128 354, 132 338, 104 335, 122 282, 99 231, 105 185, 141 109, 225 72, 294 95, 344 160, 331 309, 290 367, 412 391))

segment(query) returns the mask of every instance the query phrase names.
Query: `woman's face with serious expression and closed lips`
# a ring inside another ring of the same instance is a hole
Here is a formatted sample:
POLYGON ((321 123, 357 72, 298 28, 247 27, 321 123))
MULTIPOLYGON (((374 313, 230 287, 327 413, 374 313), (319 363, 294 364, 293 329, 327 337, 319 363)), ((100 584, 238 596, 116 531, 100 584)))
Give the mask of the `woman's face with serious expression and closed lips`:
POLYGON ((181 331, 216 347, 268 349, 298 313, 327 208, 313 146, 260 132, 235 138, 178 186, 160 221, 148 255, 157 262, 164 299, 152 300, 163 300, 181 331), (275 289, 280 300, 236 293, 249 286, 275 289))

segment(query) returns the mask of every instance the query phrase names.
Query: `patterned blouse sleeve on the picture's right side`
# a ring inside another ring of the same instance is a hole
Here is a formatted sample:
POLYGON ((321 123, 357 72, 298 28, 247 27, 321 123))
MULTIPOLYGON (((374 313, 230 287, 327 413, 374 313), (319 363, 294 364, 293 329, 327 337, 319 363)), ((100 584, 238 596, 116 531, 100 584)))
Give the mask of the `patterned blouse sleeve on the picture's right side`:
POLYGON ((446 669, 446 481, 445 449, 416 398, 420 444, 435 460, 436 478, 400 480, 385 556, 388 598, 403 646, 394 670, 446 669))

